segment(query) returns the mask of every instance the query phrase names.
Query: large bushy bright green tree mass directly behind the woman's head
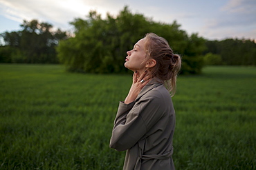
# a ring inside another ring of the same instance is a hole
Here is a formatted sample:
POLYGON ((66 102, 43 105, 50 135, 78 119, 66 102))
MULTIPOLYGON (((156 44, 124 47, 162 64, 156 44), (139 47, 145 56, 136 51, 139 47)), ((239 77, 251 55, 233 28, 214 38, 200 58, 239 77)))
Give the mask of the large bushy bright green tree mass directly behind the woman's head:
POLYGON ((85 20, 75 19, 71 25, 75 36, 60 41, 57 47, 60 62, 70 71, 127 72, 123 66, 127 50, 147 32, 154 32, 165 37, 176 54, 183 55, 183 73, 201 72, 204 39, 197 34, 188 36, 176 21, 157 23, 143 14, 132 14, 126 6, 116 17, 107 14, 102 19, 96 11, 91 11, 85 20))

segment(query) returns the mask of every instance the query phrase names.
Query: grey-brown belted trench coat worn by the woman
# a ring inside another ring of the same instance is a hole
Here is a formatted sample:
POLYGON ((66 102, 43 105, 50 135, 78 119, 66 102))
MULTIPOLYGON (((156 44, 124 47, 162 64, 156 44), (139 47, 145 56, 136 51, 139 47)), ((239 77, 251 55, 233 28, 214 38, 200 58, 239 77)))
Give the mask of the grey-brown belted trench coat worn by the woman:
POLYGON ((119 103, 109 147, 127 150, 124 170, 173 170, 174 129, 170 93, 153 78, 134 102, 119 103))

